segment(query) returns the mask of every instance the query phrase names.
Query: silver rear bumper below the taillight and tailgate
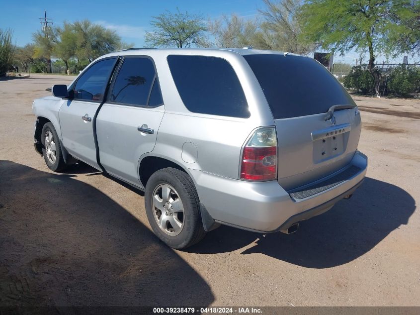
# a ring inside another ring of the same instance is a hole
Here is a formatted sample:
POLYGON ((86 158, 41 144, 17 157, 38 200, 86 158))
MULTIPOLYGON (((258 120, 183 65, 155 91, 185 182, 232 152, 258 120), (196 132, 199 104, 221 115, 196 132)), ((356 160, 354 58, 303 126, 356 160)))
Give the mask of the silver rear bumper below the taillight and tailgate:
POLYGON ((359 170, 334 187, 307 198, 294 199, 277 181, 251 183, 190 170, 200 202, 222 224, 258 232, 287 229, 295 222, 330 210, 351 195, 366 175, 368 159, 356 152, 348 167, 359 170))

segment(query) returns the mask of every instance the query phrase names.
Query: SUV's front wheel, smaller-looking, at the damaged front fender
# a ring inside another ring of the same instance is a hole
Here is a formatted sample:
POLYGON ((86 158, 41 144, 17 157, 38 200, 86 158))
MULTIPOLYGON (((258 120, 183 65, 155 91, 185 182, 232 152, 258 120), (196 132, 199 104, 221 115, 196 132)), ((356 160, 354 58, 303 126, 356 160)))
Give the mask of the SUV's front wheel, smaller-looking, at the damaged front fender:
POLYGON ((57 131, 55 130, 51 122, 47 122, 42 127, 41 143, 42 155, 44 156, 45 164, 47 164, 48 168, 51 171, 62 171, 66 167, 66 163, 63 159, 63 152, 61 149, 60 139, 57 135, 57 131), (46 139, 47 136, 49 139, 46 139))

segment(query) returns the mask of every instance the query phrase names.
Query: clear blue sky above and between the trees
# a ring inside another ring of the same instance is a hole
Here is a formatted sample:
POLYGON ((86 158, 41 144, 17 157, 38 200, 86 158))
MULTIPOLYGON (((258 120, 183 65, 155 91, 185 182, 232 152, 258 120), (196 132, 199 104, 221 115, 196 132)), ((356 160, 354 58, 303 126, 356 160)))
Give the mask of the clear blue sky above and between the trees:
MULTIPOLYGON (((32 41, 32 33, 41 29, 39 18, 47 10, 47 18, 61 25, 64 21, 88 19, 105 28, 115 30, 124 42, 134 43, 134 47, 144 47, 144 35, 151 31, 150 21, 153 16, 165 10, 188 11, 202 14, 207 19, 217 19, 223 14, 236 13, 244 18, 255 18, 258 9, 263 8, 262 0, 0 0, 0 28, 12 28, 16 45, 24 46, 32 41)), ((354 51, 345 56, 334 56, 334 62, 355 64, 358 53, 354 51)), ((401 62, 402 58, 396 58, 401 62), (400 60, 401 59, 401 60, 400 60)), ((409 57, 409 63, 412 61, 409 57)), ((386 60, 378 56, 377 61, 386 60)), ((367 59, 364 59, 367 62, 367 59)))

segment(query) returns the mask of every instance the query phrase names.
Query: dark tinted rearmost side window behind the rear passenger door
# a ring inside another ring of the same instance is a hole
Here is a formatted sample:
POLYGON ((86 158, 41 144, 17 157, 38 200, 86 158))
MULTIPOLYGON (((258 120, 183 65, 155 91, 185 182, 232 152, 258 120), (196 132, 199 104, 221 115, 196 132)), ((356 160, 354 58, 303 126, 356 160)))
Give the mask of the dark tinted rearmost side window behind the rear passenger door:
POLYGON ((179 96, 189 111, 248 118, 244 90, 232 66, 222 58, 168 56, 179 96))

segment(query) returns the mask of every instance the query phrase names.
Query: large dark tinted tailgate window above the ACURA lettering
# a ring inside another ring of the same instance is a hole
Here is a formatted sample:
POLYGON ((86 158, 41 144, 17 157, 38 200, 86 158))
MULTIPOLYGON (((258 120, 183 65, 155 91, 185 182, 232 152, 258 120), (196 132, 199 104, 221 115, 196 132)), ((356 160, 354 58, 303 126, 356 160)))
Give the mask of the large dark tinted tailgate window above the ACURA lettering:
POLYGON ((312 58, 246 55, 274 119, 327 112, 332 105, 355 105, 336 78, 312 58))

